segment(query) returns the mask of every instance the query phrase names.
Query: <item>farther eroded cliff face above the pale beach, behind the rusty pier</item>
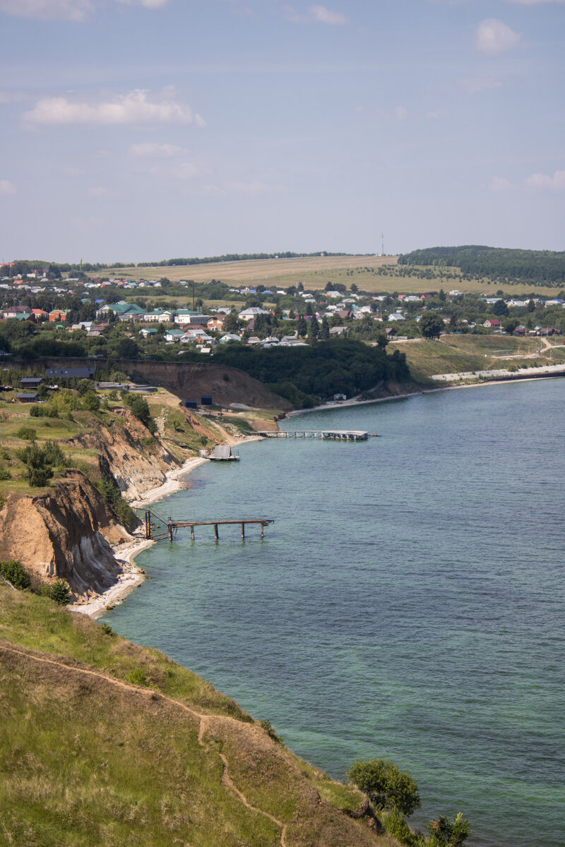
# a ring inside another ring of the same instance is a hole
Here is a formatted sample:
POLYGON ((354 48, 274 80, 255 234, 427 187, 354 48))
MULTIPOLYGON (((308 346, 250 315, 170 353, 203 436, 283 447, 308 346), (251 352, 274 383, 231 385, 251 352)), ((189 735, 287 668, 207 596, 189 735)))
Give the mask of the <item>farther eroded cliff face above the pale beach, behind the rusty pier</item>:
POLYGON ((97 450, 107 460, 126 500, 141 500, 145 491, 166 482, 169 471, 180 468, 160 440, 152 439, 147 445, 150 436, 141 421, 124 409, 111 429, 101 426, 74 443, 97 450))

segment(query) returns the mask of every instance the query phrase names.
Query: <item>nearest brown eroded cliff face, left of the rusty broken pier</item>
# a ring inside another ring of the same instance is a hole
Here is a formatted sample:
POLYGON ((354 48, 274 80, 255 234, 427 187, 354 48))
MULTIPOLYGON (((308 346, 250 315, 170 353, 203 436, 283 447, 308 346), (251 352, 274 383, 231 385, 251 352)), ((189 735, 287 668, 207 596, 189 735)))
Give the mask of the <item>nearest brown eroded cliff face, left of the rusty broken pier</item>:
POLYGON ((36 585, 62 577, 78 597, 100 594, 122 573, 110 544, 130 539, 80 471, 45 495, 10 495, 0 512, 0 559, 18 559, 36 585))

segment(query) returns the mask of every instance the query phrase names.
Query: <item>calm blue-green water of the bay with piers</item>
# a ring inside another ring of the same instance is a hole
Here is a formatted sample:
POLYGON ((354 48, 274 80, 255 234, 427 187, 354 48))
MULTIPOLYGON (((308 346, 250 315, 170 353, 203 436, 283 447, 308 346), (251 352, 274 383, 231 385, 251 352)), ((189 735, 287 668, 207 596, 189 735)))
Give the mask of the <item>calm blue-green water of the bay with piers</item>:
POLYGON ((463 811, 473 844, 558 847, 564 414, 551 379, 292 418, 382 437, 255 442, 197 468, 157 512, 276 523, 263 542, 160 542, 108 621, 335 778, 393 759, 418 781, 414 823, 463 811))

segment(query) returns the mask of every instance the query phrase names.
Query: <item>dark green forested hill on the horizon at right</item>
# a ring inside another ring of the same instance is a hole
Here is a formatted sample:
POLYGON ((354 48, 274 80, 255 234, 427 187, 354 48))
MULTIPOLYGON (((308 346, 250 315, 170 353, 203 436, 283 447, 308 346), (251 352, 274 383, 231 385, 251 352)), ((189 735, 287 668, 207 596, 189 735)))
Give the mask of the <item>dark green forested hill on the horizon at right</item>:
POLYGON ((427 247, 404 253, 398 263, 459 268, 471 277, 487 277, 507 284, 565 285, 565 252, 480 245, 427 247))

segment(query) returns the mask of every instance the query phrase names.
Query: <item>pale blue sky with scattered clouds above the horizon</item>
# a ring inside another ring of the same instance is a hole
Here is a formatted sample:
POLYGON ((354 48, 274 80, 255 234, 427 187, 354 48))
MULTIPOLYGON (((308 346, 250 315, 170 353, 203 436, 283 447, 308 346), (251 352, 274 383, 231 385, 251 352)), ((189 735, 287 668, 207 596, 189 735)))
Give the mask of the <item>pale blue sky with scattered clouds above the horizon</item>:
POLYGON ((0 0, 0 262, 564 250, 565 0, 0 0))

